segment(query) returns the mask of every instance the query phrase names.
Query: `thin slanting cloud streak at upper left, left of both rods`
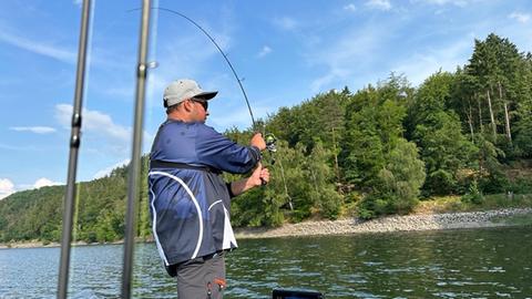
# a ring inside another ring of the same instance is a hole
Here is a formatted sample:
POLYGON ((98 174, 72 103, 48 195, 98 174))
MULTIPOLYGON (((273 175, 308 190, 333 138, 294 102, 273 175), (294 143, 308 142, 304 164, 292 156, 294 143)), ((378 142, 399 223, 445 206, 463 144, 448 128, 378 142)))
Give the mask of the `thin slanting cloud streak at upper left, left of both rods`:
POLYGON ((62 62, 74 64, 78 54, 51 44, 41 43, 31 39, 10 34, 6 29, 0 29, 0 41, 30 51, 32 53, 49 56, 62 62))

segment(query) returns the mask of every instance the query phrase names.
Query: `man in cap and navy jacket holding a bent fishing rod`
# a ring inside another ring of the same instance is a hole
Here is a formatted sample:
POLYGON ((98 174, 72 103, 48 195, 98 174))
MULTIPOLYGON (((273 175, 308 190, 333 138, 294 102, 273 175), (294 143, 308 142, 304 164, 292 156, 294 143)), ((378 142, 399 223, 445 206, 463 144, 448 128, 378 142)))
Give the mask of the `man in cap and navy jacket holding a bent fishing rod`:
POLYGON ((231 198, 269 179, 260 165, 266 148, 260 134, 242 146, 205 125, 208 101, 216 94, 192 80, 172 82, 163 96, 167 120, 150 154, 153 235, 168 275, 177 277, 182 299, 222 298, 224 252, 237 247, 231 198), (227 184, 219 176, 250 171, 249 177, 227 184))

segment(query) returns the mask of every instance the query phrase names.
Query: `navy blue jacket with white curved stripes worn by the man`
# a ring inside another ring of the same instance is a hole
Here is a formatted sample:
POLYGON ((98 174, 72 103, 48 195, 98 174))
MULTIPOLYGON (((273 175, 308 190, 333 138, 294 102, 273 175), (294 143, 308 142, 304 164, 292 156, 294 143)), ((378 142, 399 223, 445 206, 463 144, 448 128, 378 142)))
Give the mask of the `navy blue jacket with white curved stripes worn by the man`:
POLYGON ((242 146, 204 123, 168 120, 158 128, 150 161, 190 167, 150 168, 152 230, 165 266, 237 247, 231 196, 221 172, 244 174, 260 151, 242 146))

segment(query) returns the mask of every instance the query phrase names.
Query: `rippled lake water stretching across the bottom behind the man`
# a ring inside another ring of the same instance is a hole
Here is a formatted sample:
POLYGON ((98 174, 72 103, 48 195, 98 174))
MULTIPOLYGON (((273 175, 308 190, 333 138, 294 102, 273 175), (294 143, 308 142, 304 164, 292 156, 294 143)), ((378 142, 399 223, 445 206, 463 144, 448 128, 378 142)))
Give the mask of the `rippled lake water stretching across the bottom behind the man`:
MULTIPOLYGON (((532 298, 531 227, 247 239, 226 298, 274 288, 327 298, 532 298)), ((117 298, 122 245, 72 249, 70 298, 117 298)), ((59 248, 0 249, 0 298, 55 298, 59 248)), ((135 249, 135 298, 175 298, 154 244, 135 249)))

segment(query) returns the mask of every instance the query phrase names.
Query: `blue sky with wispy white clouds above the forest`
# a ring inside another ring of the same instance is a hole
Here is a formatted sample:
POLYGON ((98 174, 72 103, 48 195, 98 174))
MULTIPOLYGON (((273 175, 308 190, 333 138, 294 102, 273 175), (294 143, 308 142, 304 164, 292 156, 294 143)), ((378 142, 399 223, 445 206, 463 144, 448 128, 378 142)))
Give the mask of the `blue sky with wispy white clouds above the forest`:
MULTIPOLYGON (((0 2, 0 199, 64 184, 75 89, 81 0, 0 2)), ((141 1, 95 0, 76 177, 105 176, 131 157, 141 1)), ((454 71, 474 39, 494 32, 532 51, 529 0, 153 1, 198 23, 231 63, 256 118, 330 90, 405 75, 418 86, 454 71)), ((143 152, 161 122, 164 87, 196 80, 218 91, 207 124, 252 125, 236 79, 191 22, 152 10, 143 152)))

